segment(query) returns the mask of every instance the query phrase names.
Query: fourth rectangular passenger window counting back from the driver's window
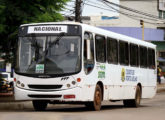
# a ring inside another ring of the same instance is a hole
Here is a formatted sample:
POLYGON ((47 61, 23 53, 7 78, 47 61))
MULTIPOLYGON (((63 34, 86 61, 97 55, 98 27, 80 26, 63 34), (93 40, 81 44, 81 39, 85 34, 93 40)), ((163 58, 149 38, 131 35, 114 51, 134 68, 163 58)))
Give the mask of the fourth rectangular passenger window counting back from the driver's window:
POLYGON ((130 44, 130 65, 138 66, 138 45, 130 44))

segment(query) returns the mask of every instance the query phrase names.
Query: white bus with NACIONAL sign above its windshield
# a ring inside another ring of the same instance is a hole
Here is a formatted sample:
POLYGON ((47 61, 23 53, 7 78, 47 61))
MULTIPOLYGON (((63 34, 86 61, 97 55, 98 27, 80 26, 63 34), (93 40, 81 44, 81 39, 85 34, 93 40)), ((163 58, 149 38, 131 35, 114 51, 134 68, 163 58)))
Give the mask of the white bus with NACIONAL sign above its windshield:
POLYGON ((156 93, 156 46, 97 27, 54 22, 21 25, 15 66, 15 99, 80 103, 102 101, 138 107, 156 93))

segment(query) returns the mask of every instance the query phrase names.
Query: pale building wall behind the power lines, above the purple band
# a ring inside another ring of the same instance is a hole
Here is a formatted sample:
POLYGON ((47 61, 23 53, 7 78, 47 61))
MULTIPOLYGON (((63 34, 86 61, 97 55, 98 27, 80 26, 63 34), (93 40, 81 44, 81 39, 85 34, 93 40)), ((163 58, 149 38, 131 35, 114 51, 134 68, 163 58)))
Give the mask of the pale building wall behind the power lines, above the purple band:
MULTIPOLYGON (((132 9, 158 16, 157 0, 121 0, 120 4, 132 9)), ((123 9, 120 9, 123 11, 123 9)), ((127 11, 128 12, 128 11, 127 11)), ((130 13, 130 12, 129 12, 130 13)), ((134 14, 134 13, 133 13, 134 14)), ((138 15, 138 14, 137 14, 138 15)), ((142 18, 141 18, 142 19, 142 18)), ((154 21, 152 21, 154 22, 154 21)), ((155 21, 156 22, 156 21, 155 21)), ((139 20, 134 20, 120 14, 120 27, 141 27, 139 20)), ((157 25, 145 23, 146 28, 157 28, 157 25)))

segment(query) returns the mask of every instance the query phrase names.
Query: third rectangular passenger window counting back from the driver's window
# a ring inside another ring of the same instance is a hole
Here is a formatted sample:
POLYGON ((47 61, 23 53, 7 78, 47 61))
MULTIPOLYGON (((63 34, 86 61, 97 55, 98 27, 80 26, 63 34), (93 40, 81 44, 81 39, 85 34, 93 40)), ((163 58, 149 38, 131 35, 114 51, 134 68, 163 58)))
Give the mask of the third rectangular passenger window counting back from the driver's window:
POLYGON ((129 49, 128 43, 119 41, 119 62, 122 65, 129 65, 129 49))

